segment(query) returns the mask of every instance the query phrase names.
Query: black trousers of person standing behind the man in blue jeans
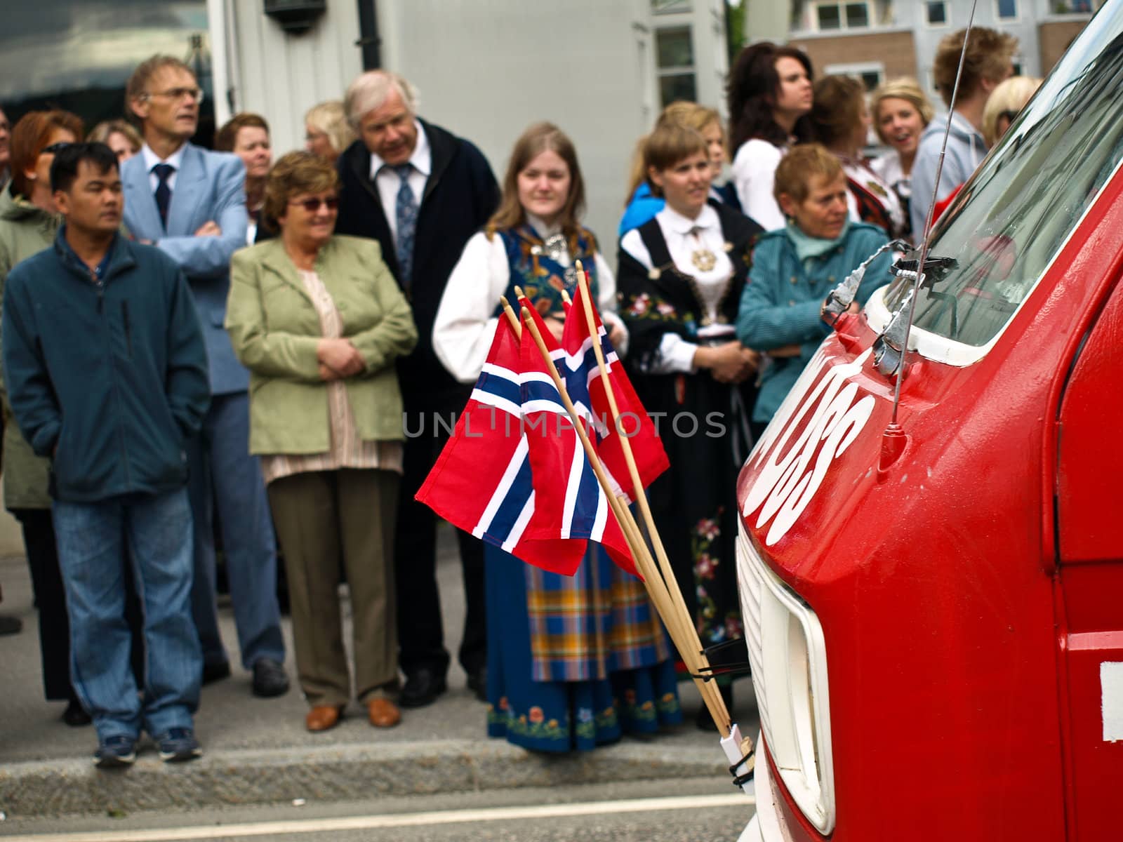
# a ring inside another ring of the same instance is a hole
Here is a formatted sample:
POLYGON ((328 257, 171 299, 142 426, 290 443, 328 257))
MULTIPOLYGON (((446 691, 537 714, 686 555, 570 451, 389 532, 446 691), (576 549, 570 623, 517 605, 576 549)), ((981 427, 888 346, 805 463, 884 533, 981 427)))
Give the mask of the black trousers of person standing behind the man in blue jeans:
MULTIPOLYGON (((49 509, 12 509, 24 532, 24 550, 31 570, 31 589, 39 614, 39 655, 43 661, 43 690, 47 701, 76 699, 70 678, 70 620, 66 592, 58 569, 55 529, 49 509)), ((139 601, 133 586, 131 566, 125 566, 125 616, 133 629, 133 674, 144 686, 144 638, 139 601)))

